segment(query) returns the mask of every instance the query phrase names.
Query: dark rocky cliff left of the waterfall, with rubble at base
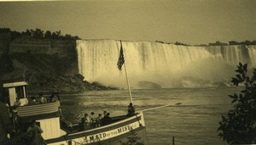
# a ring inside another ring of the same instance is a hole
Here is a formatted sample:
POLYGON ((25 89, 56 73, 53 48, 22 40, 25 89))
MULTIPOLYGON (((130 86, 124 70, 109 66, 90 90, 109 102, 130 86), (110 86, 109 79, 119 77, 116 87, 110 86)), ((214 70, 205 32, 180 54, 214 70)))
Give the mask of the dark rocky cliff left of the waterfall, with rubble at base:
POLYGON ((5 53, 0 53, 0 82, 28 81, 28 92, 111 89, 79 75, 75 41, 23 37, 2 42, 0 49, 5 53))

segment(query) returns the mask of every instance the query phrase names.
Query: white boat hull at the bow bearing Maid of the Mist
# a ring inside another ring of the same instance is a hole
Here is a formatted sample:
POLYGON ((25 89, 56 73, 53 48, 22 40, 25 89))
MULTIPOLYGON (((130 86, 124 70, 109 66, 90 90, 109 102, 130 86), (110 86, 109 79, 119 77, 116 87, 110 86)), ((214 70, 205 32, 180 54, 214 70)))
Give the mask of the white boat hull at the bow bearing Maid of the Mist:
POLYGON ((146 128, 143 113, 120 120, 110 125, 104 125, 87 131, 68 133, 65 136, 46 140, 49 145, 80 145, 105 142, 119 144, 125 142, 128 136, 136 133, 143 144, 147 144, 146 128), (114 143, 116 142, 116 143, 114 143))

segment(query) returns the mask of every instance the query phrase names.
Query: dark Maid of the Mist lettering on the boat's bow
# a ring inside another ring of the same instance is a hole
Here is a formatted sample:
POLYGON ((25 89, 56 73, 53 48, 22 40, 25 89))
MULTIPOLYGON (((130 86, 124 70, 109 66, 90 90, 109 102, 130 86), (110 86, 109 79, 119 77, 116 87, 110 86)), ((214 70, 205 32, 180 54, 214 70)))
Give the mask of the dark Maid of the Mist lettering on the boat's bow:
POLYGON ((131 130, 132 130, 131 125, 125 125, 123 127, 119 127, 118 129, 115 129, 110 132, 102 132, 96 135, 84 137, 84 142, 99 142, 106 137, 114 137, 122 132, 131 131, 131 130))

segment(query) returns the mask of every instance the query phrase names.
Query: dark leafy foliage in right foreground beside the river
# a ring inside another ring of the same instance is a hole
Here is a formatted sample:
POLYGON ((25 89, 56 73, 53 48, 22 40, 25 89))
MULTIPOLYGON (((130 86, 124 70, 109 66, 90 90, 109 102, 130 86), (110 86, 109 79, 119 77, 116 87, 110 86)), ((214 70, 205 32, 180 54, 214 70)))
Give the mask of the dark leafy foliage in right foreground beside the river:
POLYGON ((235 86, 244 85, 240 94, 229 95, 233 99, 234 109, 222 115, 218 134, 230 144, 256 143, 256 69, 253 76, 247 76, 247 64, 237 66, 236 77, 232 78, 235 86))

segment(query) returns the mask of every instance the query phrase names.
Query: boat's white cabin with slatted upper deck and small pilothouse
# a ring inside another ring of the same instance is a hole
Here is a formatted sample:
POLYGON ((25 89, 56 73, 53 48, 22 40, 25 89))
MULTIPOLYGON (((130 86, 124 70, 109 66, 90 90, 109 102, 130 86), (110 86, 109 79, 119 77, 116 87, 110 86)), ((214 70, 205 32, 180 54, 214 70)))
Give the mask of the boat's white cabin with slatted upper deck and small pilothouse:
MULTIPOLYGON (((32 120, 44 131, 45 140, 61 137, 66 134, 61 130, 60 102, 47 102, 31 104, 31 97, 27 97, 26 81, 3 84, 3 98, 9 104, 10 118, 14 122, 15 130, 26 132, 32 120), (15 106, 16 98, 20 98, 20 105, 15 106)), ((64 143, 65 144, 65 143, 64 143)))

